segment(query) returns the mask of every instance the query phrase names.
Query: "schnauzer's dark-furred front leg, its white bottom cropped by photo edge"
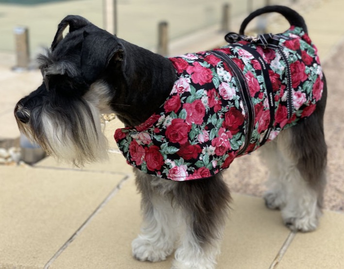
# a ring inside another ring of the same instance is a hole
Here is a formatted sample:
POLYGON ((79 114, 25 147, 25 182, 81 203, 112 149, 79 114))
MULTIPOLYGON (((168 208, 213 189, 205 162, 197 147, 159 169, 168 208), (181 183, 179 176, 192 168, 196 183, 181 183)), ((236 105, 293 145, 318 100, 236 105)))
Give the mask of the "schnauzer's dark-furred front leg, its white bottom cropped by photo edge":
POLYGON ((185 222, 173 269, 213 269, 223 237, 230 194, 221 174, 180 182, 175 202, 185 222))

